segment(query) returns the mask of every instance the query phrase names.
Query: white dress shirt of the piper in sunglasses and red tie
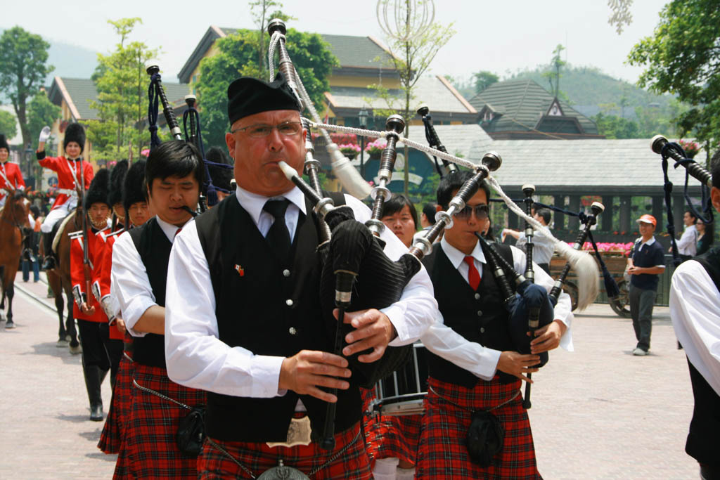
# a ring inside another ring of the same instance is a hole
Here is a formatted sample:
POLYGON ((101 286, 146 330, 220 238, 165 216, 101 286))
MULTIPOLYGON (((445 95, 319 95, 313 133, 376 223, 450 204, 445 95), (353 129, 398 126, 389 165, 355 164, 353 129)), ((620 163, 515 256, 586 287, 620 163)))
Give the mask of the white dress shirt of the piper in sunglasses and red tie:
MULTIPOLYGON (((469 283, 469 266, 464 262, 466 255, 450 245, 444 237, 440 240, 440 248, 442 248, 445 255, 447 255, 450 263, 457 268, 462 278, 469 283)), ((515 247, 510 247, 510 250, 513 253, 513 267, 518 273, 523 273, 526 263, 525 253, 515 247)), ((482 264, 485 263, 485 254, 482 253, 480 243, 475 244, 471 255, 475 268, 482 274, 482 264)), ((550 291, 554 281, 542 268, 537 265, 534 267, 535 283, 544 286, 547 291, 550 291)), ((560 346, 568 351, 573 350, 572 332, 570 329, 572 318, 570 296, 562 292, 555 306, 555 320, 560 320, 567 325, 567 330, 565 330, 560 338, 560 346)), ((432 353, 441 356, 460 368, 464 368, 483 380, 492 380, 492 377, 495 376, 495 371, 498 369, 500 350, 493 350, 492 348, 483 347, 480 343, 466 340, 462 335, 447 325, 444 325, 442 320, 441 322, 436 322, 431 325, 428 331, 420 337, 420 341, 422 341, 423 345, 432 353)))

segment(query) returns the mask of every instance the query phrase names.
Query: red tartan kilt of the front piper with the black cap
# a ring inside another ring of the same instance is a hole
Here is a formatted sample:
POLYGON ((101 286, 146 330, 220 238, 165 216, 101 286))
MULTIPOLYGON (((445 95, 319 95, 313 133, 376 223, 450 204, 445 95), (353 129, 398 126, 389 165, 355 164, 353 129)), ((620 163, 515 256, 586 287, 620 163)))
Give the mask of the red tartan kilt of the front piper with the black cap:
MULTIPOLYGON (((323 466, 330 460, 338 450, 354 441, 339 458, 312 474, 310 478, 312 480, 369 480, 372 478, 359 422, 344 432, 336 433, 333 452, 326 452, 315 442, 290 448, 270 448, 266 443, 225 442, 215 439, 213 441, 230 453, 245 468, 248 468, 254 476, 260 476, 264 471, 277 466, 279 460, 282 460, 285 466, 297 468, 303 474, 309 475, 315 468, 323 466)), ((198 478, 202 480, 253 478, 207 440, 197 458, 197 471, 198 478)))

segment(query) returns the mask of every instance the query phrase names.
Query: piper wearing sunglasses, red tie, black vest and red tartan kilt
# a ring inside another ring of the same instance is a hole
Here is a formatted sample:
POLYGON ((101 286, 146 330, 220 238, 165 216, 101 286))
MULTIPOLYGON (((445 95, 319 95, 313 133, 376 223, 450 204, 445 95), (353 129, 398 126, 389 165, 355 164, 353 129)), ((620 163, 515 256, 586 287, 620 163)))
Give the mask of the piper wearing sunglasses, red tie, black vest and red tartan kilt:
MULTIPOLYGON (((448 209, 452 197, 471 177, 472 172, 463 171, 440 181, 438 211, 448 209)), ((558 345, 572 350, 570 297, 561 294, 554 322, 536 330, 530 355, 514 351, 504 295, 476 237, 490 222, 489 197, 490 189, 483 182, 423 260, 444 325, 432 325, 420 338, 429 352, 429 378, 418 479, 540 478, 520 388, 523 380, 530 381, 527 374, 538 370, 534 365, 539 353, 558 345), (481 411, 497 417, 505 432, 502 450, 489 466, 481 466, 467 450, 469 426, 481 411)), ((521 250, 506 245, 497 248, 518 273, 525 271, 521 250)), ((538 266, 535 281, 547 291, 552 289, 552 279, 538 266)))

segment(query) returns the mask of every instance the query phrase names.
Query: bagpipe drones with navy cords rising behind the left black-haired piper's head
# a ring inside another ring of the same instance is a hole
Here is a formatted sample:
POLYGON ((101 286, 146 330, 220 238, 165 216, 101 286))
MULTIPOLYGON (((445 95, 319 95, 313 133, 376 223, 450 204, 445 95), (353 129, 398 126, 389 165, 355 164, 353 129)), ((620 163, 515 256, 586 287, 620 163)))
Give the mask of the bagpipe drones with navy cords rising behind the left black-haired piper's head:
MULTIPOLYGON (((183 140, 183 135, 180 130, 177 117, 173 106, 168 101, 168 97, 165 94, 163 88, 162 78, 160 75, 160 67, 156 63, 149 63, 145 69, 150 76, 150 85, 148 86, 148 130, 150 130, 150 151, 153 148, 160 145, 161 140, 158 137, 158 110, 159 104, 163 106, 163 115, 165 121, 168 124, 168 129, 174 140, 183 140)), ((193 216, 198 213, 202 213, 207 210, 207 207, 214 206, 218 202, 217 191, 223 191, 225 194, 229 194, 229 191, 221 189, 212 183, 212 175, 210 174, 210 167, 219 170, 232 170, 233 166, 225 163, 215 163, 205 158, 205 150, 202 142, 202 129, 200 127, 200 117, 195 109, 195 102, 197 101, 194 95, 186 95, 185 103, 187 109, 183 112, 183 127, 185 141, 191 143, 199 151, 203 168, 204 168, 204 181, 200 186, 200 196, 198 200, 198 211, 192 212, 188 209, 188 212, 193 216)))

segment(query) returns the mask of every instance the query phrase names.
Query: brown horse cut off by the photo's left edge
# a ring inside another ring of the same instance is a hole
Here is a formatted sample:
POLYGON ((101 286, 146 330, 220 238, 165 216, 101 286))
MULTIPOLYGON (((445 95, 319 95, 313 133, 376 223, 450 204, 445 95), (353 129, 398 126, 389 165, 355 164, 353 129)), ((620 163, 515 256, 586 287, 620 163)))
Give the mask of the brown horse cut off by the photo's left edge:
POLYGON ((15 326, 12 321, 12 297, 15 295, 15 275, 20 263, 22 244, 32 233, 30 219, 30 201, 22 191, 7 190, 5 207, 0 214, 0 273, 2 277, 2 299, 0 300, 0 320, 2 320, 7 298, 5 328, 15 326))

